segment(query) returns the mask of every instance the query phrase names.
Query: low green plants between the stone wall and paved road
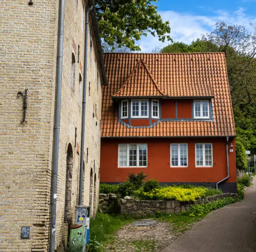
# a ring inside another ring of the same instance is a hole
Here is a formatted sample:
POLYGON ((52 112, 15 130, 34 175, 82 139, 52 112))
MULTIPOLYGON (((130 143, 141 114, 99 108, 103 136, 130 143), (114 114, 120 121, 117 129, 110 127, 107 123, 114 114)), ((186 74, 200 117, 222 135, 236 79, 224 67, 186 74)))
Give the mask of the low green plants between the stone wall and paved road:
POLYGON ((220 200, 214 201, 212 203, 191 206, 189 208, 189 210, 184 212, 184 214, 189 215, 189 216, 202 216, 204 214, 209 213, 210 211, 216 210, 225 205, 235 203, 235 202, 236 202, 236 199, 227 197, 225 199, 220 199, 220 200))

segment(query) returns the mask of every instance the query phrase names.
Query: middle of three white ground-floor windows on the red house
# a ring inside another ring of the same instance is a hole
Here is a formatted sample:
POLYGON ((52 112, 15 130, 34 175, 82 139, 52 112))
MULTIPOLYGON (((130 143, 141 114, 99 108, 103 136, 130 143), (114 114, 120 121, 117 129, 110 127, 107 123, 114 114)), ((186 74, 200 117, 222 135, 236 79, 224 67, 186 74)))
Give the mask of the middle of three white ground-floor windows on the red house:
POLYGON ((187 143, 171 144, 171 167, 188 167, 187 143))

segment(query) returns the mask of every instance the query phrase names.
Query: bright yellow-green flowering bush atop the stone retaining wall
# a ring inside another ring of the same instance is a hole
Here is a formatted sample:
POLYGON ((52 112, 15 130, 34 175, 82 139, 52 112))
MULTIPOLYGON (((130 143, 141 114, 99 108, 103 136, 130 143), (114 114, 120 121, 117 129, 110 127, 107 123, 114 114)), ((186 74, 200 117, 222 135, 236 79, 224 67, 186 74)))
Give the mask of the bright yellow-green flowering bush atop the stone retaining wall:
POLYGON ((150 192, 136 191, 138 196, 144 199, 178 200, 181 202, 195 201, 207 195, 209 189, 204 187, 181 188, 179 186, 168 186, 156 188, 150 192))

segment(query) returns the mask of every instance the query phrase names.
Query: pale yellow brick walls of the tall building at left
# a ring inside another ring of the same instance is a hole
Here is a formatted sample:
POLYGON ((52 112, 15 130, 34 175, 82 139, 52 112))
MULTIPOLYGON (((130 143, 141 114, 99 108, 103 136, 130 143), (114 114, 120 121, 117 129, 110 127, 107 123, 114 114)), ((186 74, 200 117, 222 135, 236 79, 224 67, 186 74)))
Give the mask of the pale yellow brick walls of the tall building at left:
MULTIPOLYGON (((0 251, 48 251, 59 1, 0 2, 0 251), (26 119, 23 96, 27 89, 26 119), (30 237, 20 238, 21 227, 30 237)), ((67 242, 78 204, 85 10, 66 0, 55 247, 67 242), (68 176, 68 179, 67 179, 68 176), (66 193, 67 192, 67 193, 66 193), (65 210, 65 200, 68 208, 65 210)), ((95 19, 94 19, 95 20, 95 19)), ((101 87, 97 24, 89 15, 83 204, 97 209, 101 87)))

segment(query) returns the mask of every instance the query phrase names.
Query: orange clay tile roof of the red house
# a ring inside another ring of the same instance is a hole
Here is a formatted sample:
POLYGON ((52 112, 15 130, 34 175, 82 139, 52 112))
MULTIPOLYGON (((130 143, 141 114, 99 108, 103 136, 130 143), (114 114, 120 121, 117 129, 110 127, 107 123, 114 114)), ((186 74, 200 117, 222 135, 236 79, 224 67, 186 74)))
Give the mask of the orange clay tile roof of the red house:
POLYGON ((105 53, 102 137, 233 136, 236 134, 224 53, 105 53), (162 121, 154 127, 118 122, 113 98, 214 97, 214 121, 162 121))

